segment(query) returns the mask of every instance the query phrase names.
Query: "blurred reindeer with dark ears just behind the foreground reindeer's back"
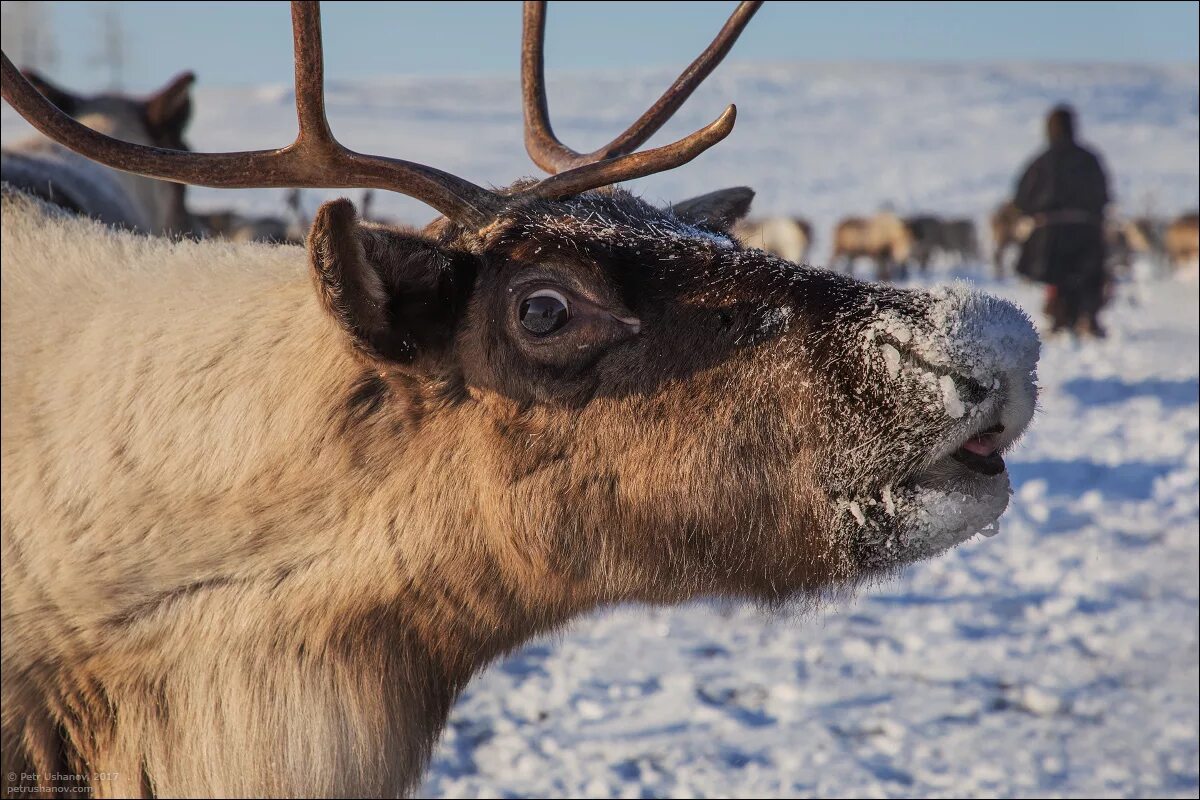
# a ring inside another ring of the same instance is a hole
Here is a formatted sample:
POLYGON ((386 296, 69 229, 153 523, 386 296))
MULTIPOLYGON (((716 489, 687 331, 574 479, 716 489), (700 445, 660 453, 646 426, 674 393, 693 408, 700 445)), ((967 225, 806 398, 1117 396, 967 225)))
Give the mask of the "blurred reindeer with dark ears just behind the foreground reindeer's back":
MULTIPOLYGON (((192 115, 191 72, 172 78, 145 100, 124 95, 85 97, 34 72, 25 78, 61 112, 112 137, 186 150, 192 115)), ((144 234, 188 233, 184 185, 108 169, 56 142, 32 137, 6 148, 0 180, 76 213, 144 234)))

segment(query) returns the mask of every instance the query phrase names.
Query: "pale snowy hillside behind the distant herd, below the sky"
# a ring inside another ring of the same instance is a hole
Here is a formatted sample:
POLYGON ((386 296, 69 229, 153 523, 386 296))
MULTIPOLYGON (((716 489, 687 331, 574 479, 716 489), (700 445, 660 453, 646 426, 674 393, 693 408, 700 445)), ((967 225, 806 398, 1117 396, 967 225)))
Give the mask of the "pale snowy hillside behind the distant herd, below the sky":
MULTIPOLYGON (((515 70, 514 70, 515 73, 515 70)), ((342 84, 331 73, 329 113, 356 150, 409 158, 475 182, 505 185, 536 169, 524 154, 516 76, 380 78, 342 84)), ((556 74, 554 130, 589 150, 631 122, 674 76, 668 71, 556 74)), ((290 140, 290 86, 221 89, 200 76, 191 142, 241 150, 290 140)), ((1120 207, 1174 215, 1198 204, 1200 71, 1196 65, 725 65, 650 144, 698 128, 738 106, 732 136, 691 164, 638 181, 671 200, 746 184, 758 213, 804 215, 817 224, 814 257, 847 213, 884 204, 983 218, 1012 191, 1042 144, 1042 119, 1074 103, 1082 138, 1104 155, 1120 207)), ((24 124, 4 109, 4 137, 24 124)), ((313 207, 324 194, 311 192, 313 207)), ((194 190, 200 206, 281 212, 277 191, 194 190)), ((398 196, 380 212, 413 222, 430 211, 398 196)))

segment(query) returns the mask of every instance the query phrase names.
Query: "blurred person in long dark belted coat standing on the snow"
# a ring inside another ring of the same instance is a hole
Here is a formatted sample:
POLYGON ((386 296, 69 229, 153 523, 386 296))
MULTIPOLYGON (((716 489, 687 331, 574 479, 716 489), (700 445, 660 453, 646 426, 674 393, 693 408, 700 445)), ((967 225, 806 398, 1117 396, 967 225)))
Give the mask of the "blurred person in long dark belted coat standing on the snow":
POLYGON ((1033 219, 1016 271, 1045 283, 1055 331, 1104 336, 1104 206, 1108 176, 1094 152, 1075 142, 1075 114, 1058 106, 1046 118, 1050 146, 1028 166, 1014 204, 1033 219))

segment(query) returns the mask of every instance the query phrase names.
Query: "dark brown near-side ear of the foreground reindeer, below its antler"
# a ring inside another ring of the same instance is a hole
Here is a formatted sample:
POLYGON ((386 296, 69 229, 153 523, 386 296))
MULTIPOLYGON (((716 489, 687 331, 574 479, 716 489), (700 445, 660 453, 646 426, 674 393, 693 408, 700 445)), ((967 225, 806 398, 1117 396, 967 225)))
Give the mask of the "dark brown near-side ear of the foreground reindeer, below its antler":
POLYGON ((361 224, 341 199, 317 211, 308 260, 325 311, 373 361, 432 366, 474 282, 469 255, 412 233, 361 224))

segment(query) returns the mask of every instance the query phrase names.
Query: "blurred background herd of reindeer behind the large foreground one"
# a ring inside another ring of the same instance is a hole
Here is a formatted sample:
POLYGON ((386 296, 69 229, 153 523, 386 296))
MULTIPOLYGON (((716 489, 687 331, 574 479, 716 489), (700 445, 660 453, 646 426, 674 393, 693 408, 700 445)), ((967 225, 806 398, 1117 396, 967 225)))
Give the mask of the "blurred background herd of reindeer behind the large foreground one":
MULTIPOLYGON (((35 73, 25 76, 55 106, 98 131, 130 142, 185 146, 182 134, 192 103, 191 73, 178 76, 149 98, 85 97, 35 73)), ((277 216, 250 216, 234 210, 192 211, 185 203, 182 185, 115 173, 41 137, 5 148, 2 178, 60 205, 150 234, 300 243, 311 224, 300 190, 283 196, 284 210, 277 216)), ((366 221, 395 222, 372 212, 371 190, 361 196, 360 212, 366 221)), ((991 267, 995 277, 1003 278, 1013 251, 1032 233, 1033 223, 1008 201, 991 213, 989 227, 991 267)), ((744 219, 736 225, 734 235, 749 247, 797 264, 809 263, 815 242, 812 224, 797 217, 744 219)), ((1105 239, 1114 275, 1128 273, 1138 258, 1183 267, 1200 254, 1195 211, 1174 219, 1110 217, 1105 239)), ((905 277, 910 270, 926 273, 935 263, 959 267, 982 264, 983 255, 973 219, 881 211, 845 217, 834 225, 828 266, 852 275, 856 265, 866 261, 874 267, 876 279, 892 281, 905 277)))

